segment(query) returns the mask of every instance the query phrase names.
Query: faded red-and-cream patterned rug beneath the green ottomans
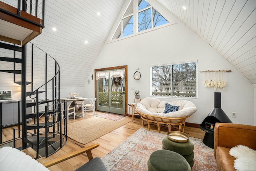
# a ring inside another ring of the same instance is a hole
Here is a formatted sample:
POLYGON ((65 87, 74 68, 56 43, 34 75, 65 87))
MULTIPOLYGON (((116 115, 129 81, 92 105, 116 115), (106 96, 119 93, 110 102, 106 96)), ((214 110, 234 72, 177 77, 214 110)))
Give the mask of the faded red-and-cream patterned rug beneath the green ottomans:
MULTIPOLYGON (((150 154, 162 149, 162 138, 166 134, 138 129, 122 144, 102 157, 108 171, 147 171, 150 154)), ((190 137, 194 144, 193 171, 217 171, 214 149, 207 147, 202 139, 190 137)))

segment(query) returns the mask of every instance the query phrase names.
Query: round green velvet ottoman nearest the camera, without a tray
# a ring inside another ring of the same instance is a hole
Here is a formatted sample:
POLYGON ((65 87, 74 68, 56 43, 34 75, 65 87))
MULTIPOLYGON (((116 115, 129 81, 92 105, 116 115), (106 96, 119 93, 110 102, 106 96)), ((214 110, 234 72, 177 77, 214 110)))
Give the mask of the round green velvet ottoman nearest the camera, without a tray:
POLYGON ((148 171, 191 171, 191 167, 182 155, 170 150, 157 150, 148 158, 148 171))

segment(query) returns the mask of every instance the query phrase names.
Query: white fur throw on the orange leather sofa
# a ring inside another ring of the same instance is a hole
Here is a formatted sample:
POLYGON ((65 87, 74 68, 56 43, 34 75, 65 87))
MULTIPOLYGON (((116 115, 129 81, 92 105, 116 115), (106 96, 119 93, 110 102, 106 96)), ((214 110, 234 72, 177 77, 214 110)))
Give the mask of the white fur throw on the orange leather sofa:
POLYGON ((256 151, 244 145, 232 147, 230 155, 236 158, 234 168, 237 171, 256 171, 256 151))

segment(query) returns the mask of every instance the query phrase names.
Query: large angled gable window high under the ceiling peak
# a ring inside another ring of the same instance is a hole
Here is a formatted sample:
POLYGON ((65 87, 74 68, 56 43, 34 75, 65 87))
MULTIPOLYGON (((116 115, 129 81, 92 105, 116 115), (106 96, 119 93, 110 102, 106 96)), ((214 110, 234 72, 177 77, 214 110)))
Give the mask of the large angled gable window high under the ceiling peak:
POLYGON ((169 22, 146 0, 130 0, 112 40, 123 38, 134 34, 134 32, 141 32, 167 23, 169 22), (135 8, 135 12, 134 4, 138 7, 135 8), (134 20, 134 16, 137 17, 136 20, 134 20), (136 21, 136 23, 134 21, 136 21), (134 24, 136 25, 135 27, 134 24), (134 28, 137 28, 136 31, 134 31, 134 28))

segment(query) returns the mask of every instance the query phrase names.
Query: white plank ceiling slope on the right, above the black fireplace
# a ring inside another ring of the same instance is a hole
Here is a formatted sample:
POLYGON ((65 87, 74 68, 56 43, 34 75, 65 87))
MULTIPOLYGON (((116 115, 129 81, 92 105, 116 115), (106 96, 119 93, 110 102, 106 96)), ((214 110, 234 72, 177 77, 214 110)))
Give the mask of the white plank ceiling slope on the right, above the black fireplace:
POLYGON ((157 1, 256 84, 255 0, 157 1))

